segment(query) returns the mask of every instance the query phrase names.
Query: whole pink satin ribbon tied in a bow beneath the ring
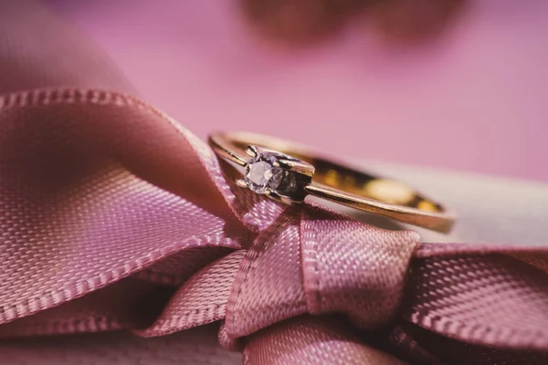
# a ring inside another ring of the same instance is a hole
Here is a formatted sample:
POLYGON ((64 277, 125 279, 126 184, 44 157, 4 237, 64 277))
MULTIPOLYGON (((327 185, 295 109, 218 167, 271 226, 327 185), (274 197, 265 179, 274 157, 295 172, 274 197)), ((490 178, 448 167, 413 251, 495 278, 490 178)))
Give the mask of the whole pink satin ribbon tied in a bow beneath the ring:
POLYGON ((120 93, 0 99, 0 337, 220 321, 248 364, 548 361, 548 249, 421 245, 236 176, 120 93))

